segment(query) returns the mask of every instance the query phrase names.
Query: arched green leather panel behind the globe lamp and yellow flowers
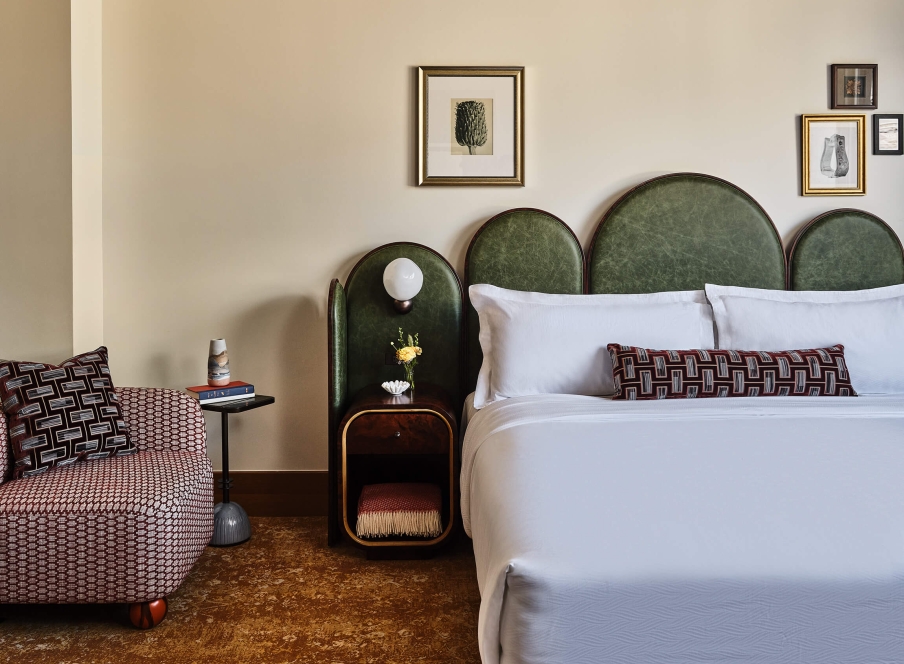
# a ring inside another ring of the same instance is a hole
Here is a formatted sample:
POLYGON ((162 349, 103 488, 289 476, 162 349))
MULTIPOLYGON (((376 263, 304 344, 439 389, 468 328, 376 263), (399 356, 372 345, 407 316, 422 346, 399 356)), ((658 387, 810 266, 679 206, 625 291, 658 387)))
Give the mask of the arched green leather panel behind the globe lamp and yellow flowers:
POLYGON ((385 363, 389 345, 405 334, 420 335, 415 383, 433 383, 460 403, 462 292, 458 276, 436 252, 405 242, 386 245, 366 256, 345 286, 348 298, 348 394, 387 380, 404 380, 398 365, 385 363), (396 258, 410 258, 424 273, 424 285, 407 314, 398 313, 383 288, 383 270, 396 258))

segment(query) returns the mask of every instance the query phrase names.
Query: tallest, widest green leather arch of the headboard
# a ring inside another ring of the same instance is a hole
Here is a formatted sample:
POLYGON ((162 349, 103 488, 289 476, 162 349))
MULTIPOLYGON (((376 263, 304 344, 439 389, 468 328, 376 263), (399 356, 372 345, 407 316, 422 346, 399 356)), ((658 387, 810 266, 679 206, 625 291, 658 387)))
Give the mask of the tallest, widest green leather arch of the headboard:
POLYGON ((666 175, 628 192, 603 217, 588 262, 590 293, 698 290, 707 283, 785 288, 781 238, 733 184, 666 175))

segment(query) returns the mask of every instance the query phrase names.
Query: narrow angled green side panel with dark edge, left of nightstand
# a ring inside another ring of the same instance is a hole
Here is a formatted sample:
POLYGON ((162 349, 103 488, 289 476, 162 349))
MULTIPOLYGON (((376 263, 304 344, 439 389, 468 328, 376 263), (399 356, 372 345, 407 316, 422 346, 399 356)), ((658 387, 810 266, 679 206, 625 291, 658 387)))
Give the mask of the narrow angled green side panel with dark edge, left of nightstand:
POLYGON ((339 540, 339 522, 336 517, 336 427, 348 407, 348 320, 346 318, 345 289, 338 279, 330 283, 328 300, 327 351, 329 362, 329 521, 327 540, 330 546, 339 540))

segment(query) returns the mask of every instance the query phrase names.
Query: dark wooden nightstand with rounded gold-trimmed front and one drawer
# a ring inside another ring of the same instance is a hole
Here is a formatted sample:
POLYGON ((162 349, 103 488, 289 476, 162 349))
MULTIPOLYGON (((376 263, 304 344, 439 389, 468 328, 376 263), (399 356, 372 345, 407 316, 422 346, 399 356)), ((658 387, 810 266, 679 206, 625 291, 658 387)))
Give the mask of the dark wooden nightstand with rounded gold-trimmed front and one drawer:
POLYGON ((388 394, 379 385, 361 390, 339 423, 339 529, 367 550, 368 558, 431 555, 449 541, 458 509, 458 422, 440 388, 418 384, 414 397, 388 394), (442 533, 433 538, 364 539, 355 534, 358 498, 368 484, 430 483, 442 495, 442 533))

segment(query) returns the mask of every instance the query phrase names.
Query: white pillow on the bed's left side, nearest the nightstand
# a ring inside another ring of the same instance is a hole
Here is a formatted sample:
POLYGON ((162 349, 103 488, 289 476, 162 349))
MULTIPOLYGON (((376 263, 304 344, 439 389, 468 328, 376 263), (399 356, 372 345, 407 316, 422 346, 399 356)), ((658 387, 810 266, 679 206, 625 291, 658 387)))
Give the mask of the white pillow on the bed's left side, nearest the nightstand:
POLYGON ((703 291, 548 295, 475 284, 468 292, 483 350, 475 408, 528 394, 613 394, 606 344, 714 345, 703 291))

